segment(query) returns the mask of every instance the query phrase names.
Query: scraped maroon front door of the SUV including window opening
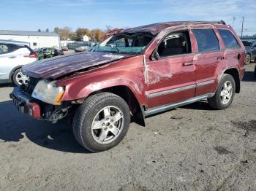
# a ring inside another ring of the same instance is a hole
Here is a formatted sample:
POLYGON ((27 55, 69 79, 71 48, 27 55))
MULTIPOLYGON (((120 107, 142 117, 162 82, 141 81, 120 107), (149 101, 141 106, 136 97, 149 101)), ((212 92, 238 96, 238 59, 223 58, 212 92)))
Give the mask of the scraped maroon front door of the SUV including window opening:
POLYGON ((189 31, 175 31, 165 36, 154 55, 154 61, 145 61, 148 108, 193 98, 196 60, 189 31))

